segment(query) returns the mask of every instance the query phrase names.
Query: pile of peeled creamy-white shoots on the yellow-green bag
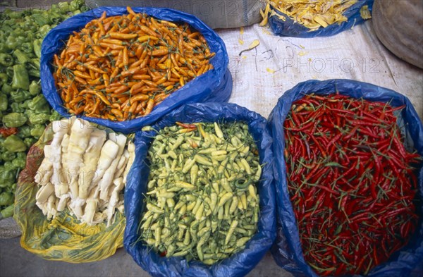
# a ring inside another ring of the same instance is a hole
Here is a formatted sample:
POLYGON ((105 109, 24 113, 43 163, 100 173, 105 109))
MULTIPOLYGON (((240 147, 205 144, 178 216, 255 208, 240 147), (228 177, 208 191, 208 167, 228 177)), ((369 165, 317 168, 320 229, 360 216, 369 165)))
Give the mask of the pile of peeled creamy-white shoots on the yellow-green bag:
POLYGON ((99 130, 80 118, 51 123, 51 144, 35 183, 40 187, 36 204, 47 218, 66 207, 82 223, 107 220, 116 209, 123 212, 123 187, 135 158, 135 146, 125 135, 99 130))

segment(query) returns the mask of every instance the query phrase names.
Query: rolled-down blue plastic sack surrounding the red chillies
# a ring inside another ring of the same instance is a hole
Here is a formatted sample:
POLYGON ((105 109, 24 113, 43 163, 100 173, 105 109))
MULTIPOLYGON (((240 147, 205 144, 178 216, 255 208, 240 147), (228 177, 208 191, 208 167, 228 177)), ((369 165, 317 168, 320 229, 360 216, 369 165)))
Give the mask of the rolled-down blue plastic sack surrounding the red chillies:
MULTIPOLYGON (((283 149, 285 149, 283 122, 286 119, 293 101, 301 99, 305 94, 315 93, 318 95, 327 95, 335 92, 354 98, 363 97, 369 101, 390 101, 392 106, 405 105, 405 109, 400 113, 399 120, 403 121, 401 125, 404 125, 406 129, 406 144, 414 146, 417 152, 423 155, 422 121, 417 115, 410 100, 398 92, 354 80, 309 80, 307 82, 301 82, 291 90, 285 92, 285 94, 278 99, 278 103, 269 116, 269 125, 272 137, 274 137, 274 176, 277 206, 276 240, 271 247, 271 253, 279 266, 292 272, 295 276, 318 275, 308 266, 308 264, 306 264, 303 257, 297 221, 288 194, 286 164, 283 158, 283 149)), ((423 168, 419 168, 418 187, 419 192, 417 193, 417 197, 422 200, 423 168)), ((391 255, 391 258, 386 261, 386 263, 380 264, 372 269, 372 271, 369 271, 367 276, 408 276, 410 272, 423 261, 422 201, 419 202, 419 207, 416 207, 416 211, 417 214, 419 214, 419 223, 410 242, 401 250, 391 255)))

